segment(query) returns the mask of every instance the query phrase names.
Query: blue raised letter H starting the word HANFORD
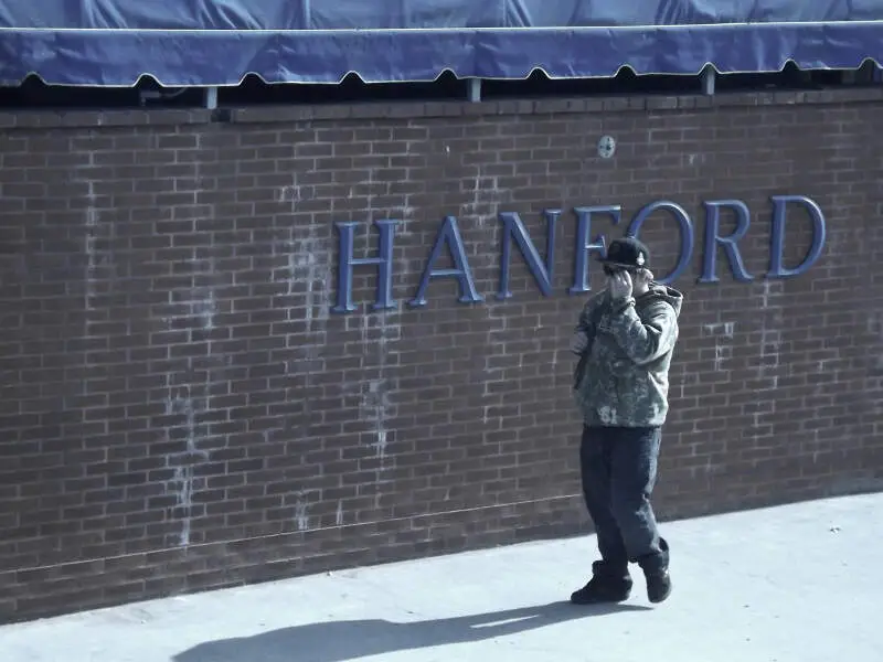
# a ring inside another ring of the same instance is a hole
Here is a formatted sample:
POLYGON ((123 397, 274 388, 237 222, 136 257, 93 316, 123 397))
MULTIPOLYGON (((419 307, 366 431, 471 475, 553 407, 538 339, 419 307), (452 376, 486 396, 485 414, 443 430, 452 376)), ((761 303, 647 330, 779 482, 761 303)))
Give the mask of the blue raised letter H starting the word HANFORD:
POLYGON ((374 301, 374 310, 395 308, 395 301, 393 301, 393 231, 398 225, 398 221, 374 221, 374 225, 380 231, 377 257, 354 258, 352 256, 352 237, 355 225, 355 223, 334 223, 340 235, 340 249, 338 255, 338 305, 331 311, 352 312, 355 310, 355 306, 352 303, 352 268, 361 265, 377 266, 377 296, 374 301))

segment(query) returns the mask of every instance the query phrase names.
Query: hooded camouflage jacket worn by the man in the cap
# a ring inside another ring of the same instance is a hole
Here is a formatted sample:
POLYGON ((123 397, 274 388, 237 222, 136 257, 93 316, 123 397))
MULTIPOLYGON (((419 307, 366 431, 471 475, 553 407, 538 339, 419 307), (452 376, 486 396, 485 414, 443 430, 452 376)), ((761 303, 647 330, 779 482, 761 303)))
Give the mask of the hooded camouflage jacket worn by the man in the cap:
POLYGON ((681 292, 658 284, 637 299, 613 301, 604 290, 588 300, 575 330, 588 344, 574 375, 574 397, 586 425, 666 421, 682 302, 681 292))

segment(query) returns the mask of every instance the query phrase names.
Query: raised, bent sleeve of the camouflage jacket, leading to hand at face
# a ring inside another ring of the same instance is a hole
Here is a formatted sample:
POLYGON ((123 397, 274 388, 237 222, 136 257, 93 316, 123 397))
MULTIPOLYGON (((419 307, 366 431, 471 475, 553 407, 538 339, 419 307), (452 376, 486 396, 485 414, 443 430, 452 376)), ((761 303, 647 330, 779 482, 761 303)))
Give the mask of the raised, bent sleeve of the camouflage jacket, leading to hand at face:
POLYGON ((642 321, 635 310, 635 299, 628 299, 611 311, 609 329, 629 359, 645 365, 664 356, 674 346, 678 316, 669 303, 659 301, 642 321))

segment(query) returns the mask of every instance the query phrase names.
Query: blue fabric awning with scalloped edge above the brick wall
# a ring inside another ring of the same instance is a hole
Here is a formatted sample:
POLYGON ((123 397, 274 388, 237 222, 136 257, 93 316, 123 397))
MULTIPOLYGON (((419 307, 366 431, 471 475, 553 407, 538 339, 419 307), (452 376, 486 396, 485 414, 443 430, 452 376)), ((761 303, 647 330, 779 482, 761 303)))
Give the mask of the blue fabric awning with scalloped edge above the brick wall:
POLYGON ((866 60, 883 61, 883 0, 0 0, 3 85, 586 78, 866 60))

